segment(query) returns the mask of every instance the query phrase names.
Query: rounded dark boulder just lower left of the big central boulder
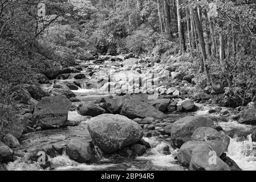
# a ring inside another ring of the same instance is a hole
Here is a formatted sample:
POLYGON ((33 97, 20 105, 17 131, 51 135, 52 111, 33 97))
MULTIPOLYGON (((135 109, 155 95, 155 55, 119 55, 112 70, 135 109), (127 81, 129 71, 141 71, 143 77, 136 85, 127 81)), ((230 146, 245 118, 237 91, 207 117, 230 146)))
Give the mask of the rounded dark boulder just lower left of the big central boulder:
POLYGON ((71 139, 67 145, 66 154, 79 163, 96 162, 94 145, 86 140, 71 139))

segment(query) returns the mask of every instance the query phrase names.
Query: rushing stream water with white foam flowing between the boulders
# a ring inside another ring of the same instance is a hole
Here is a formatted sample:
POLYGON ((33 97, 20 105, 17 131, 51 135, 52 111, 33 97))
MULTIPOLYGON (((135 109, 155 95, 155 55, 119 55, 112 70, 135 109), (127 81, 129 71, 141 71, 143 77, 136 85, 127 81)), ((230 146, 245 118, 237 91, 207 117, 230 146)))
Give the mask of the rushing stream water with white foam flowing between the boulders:
MULTIPOLYGON (((71 75, 72 79, 74 75, 71 75)), ((81 101, 91 101, 102 97, 96 89, 86 89, 84 86, 82 89, 74 90, 77 98, 81 101)), ((169 114, 170 120, 176 121, 179 118, 185 117, 188 114, 194 115, 209 115, 218 117, 220 114, 209 114, 210 109, 214 109, 213 105, 201 105, 197 104, 198 111, 194 113, 176 113, 169 114)), ((229 108, 222 107, 223 110, 229 108)), ((7 164, 6 168, 9 170, 42 170, 38 163, 29 160, 29 154, 39 148, 45 148, 51 144, 66 144, 72 138, 81 138, 84 140, 91 140, 90 134, 87 130, 86 122, 88 117, 79 115, 76 111, 70 111, 68 113, 68 120, 71 122, 82 122, 79 126, 67 127, 65 129, 55 129, 47 131, 38 131, 36 133, 25 134, 22 137, 22 147, 19 152, 22 152, 23 156, 20 156, 14 162, 7 164), (24 152, 24 151, 28 152, 24 152)), ((236 121, 232 121, 230 117, 227 117, 227 122, 218 123, 224 129, 227 135, 230 135, 230 144, 227 151, 227 156, 233 159, 239 167, 243 170, 256 170, 256 143, 251 141, 250 125, 242 125, 236 121), (241 139, 241 136, 243 137, 241 139)), ((51 169, 54 170, 127 170, 127 169, 140 169, 140 170, 165 170, 178 166, 177 160, 174 159, 177 155, 177 150, 174 150, 170 146, 169 138, 162 139, 157 137, 144 138, 151 144, 151 148, 140 157, 133 159, 124 159, 119 156, 111 156, 110 158, 102 158, 100 162, 96 164, 80 164, 68 158, 63 152, 63 155, 52 158, 51 169), (163 148, 169 146, 170 154, 165 155, 163 148)), ((99 154, 100 155, 100 154, 99 154)), ((48 170, 48 169, 47 169, 48 170)))

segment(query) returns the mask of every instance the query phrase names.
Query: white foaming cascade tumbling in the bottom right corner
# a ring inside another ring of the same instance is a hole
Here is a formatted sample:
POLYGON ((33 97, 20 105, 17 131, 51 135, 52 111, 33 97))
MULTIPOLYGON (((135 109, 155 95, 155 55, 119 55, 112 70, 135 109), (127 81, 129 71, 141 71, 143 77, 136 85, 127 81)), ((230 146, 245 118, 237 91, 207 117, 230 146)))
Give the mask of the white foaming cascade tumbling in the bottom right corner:
POLYGON ((239 142, 239 138, 230 138, 227 156, 233 159, 242 170, 256 170, 256 142, 252 142, 251 135, 242 142, 239 142))

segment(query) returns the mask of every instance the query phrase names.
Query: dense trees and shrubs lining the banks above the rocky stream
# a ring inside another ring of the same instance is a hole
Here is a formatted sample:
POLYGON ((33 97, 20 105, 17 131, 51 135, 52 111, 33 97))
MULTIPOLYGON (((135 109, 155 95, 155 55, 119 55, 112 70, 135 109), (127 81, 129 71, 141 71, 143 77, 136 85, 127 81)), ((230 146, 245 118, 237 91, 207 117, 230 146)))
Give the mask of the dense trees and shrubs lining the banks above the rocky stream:
POLYGON ((256 3, 245 0, 1 0, 0 79, 33 82, 31 74, 72 65, 87 51, 164 60, 180 53, 198 89, 245 104, 256 94, 255 24, 256 3))

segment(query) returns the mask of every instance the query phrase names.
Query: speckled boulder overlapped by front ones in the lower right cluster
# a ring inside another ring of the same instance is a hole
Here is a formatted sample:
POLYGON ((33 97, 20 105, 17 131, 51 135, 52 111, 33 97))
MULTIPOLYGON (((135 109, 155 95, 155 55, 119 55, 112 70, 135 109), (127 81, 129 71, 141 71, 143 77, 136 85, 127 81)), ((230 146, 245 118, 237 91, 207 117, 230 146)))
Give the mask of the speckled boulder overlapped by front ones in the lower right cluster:
POLYGON ((230 138, 210 127, 200 127, 196 129, 191 137, 193 140, 205 141, 218 156, 229 147, 230 138))

